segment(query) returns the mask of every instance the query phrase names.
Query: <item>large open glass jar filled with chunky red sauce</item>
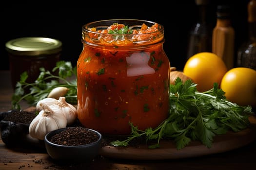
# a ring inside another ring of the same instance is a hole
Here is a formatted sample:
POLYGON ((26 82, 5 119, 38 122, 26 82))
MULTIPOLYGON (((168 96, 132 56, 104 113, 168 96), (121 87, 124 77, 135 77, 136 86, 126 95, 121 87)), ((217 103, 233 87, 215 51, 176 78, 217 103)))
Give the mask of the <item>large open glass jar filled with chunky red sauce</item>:
POLYGON ((145 130, 168 117, 170 62, 163 50, 162 25, 133 19, 96 21, 82 27, 82 42, 77 110, 85 127, 124 135, 131 133, 129 122, 145 130), (117 31, 118 24, 133 33, 107 32, 110 27, 117 31))

